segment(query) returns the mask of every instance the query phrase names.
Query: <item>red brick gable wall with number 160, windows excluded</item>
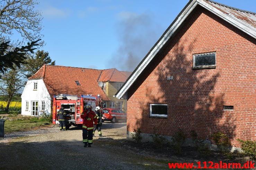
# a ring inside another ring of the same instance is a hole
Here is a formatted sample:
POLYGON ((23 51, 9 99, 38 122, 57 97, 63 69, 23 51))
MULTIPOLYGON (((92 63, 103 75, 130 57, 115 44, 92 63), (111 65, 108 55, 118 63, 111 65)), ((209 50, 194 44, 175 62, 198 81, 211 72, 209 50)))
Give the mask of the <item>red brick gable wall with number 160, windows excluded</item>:
POLYGON ((128 90, 127 130, 172 136, 196 130, 256 140, 256 41, 197 7, 128 90), (193 54, 216 52, 215 69, 192 69, 193 54), (173 76, 173 80, 167 80, 173 76), (150 118, 149 103, 168 103, 168 118, 150 118), (234 106, 223 111, 223 105, 234 106))

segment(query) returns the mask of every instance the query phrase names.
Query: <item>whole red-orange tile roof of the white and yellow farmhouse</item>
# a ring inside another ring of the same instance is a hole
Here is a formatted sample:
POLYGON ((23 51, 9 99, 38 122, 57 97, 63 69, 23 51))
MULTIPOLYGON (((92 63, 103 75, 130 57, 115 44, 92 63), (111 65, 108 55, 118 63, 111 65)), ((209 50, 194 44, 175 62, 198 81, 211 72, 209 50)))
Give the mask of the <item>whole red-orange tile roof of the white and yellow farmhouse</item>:
POLYGON ((131 72, 116 69, 96 70, 77 67, 44 65, 28 79, 43 79, 51 97, 56 94, 100 94, 103 100, 110 100, 101 87, 99 81, 125 82, 131 72), (76 81, 80 83, 77 85, 76 81))

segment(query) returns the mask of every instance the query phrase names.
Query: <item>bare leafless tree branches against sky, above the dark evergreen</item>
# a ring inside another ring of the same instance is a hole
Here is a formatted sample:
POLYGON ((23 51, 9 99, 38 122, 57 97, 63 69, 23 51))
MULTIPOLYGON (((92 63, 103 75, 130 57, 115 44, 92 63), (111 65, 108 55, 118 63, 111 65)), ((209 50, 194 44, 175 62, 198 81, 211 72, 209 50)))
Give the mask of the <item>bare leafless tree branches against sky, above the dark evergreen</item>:
MULTIPOLYGON (((0 1, 0 38, 9 38, 14 31, 23 40, 34 41, 42 38, 42 16, 34 6, 36 0, 3 0, 0 1)), ((9 39, 8 39, 9 40, 9 39)))

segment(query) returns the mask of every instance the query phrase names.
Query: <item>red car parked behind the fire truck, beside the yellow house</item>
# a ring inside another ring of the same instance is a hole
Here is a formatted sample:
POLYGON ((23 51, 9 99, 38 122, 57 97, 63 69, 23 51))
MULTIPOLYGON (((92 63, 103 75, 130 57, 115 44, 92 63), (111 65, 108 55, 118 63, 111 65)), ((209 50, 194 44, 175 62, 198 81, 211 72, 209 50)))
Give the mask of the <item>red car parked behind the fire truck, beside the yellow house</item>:
POLYGON ((103 121, 111 121, 111 123, 116 123, 117 120, 126 120, 126 113, 120 109, 106 108, 103 109, 103 114, 103 121))

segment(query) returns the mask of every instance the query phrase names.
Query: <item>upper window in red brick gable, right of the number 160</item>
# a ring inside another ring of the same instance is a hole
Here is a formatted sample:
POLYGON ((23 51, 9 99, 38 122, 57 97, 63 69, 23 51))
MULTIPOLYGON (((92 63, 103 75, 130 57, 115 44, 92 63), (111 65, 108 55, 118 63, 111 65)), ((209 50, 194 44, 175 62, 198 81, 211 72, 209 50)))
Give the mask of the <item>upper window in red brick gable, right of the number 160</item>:
POLYGON ((194 54, 193 68, 216 68, 216 52, 194 54))

